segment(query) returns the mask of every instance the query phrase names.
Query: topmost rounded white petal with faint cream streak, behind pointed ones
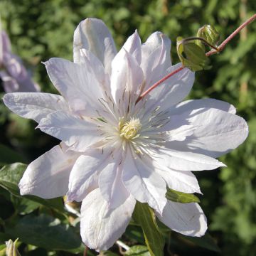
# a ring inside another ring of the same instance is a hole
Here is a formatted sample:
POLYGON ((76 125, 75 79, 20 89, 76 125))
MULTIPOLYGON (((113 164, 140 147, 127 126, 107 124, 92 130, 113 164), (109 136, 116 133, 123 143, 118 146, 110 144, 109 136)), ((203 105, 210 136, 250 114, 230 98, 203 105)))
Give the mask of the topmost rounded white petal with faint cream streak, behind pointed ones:
POLYGON ((111 62, 117 50, 114 40, 103 21, 86 18, 81 21, 74 33, 74 62, 80 63, 80 49, 90 50, 104 65, 106 73, 111 73, 111 62))

